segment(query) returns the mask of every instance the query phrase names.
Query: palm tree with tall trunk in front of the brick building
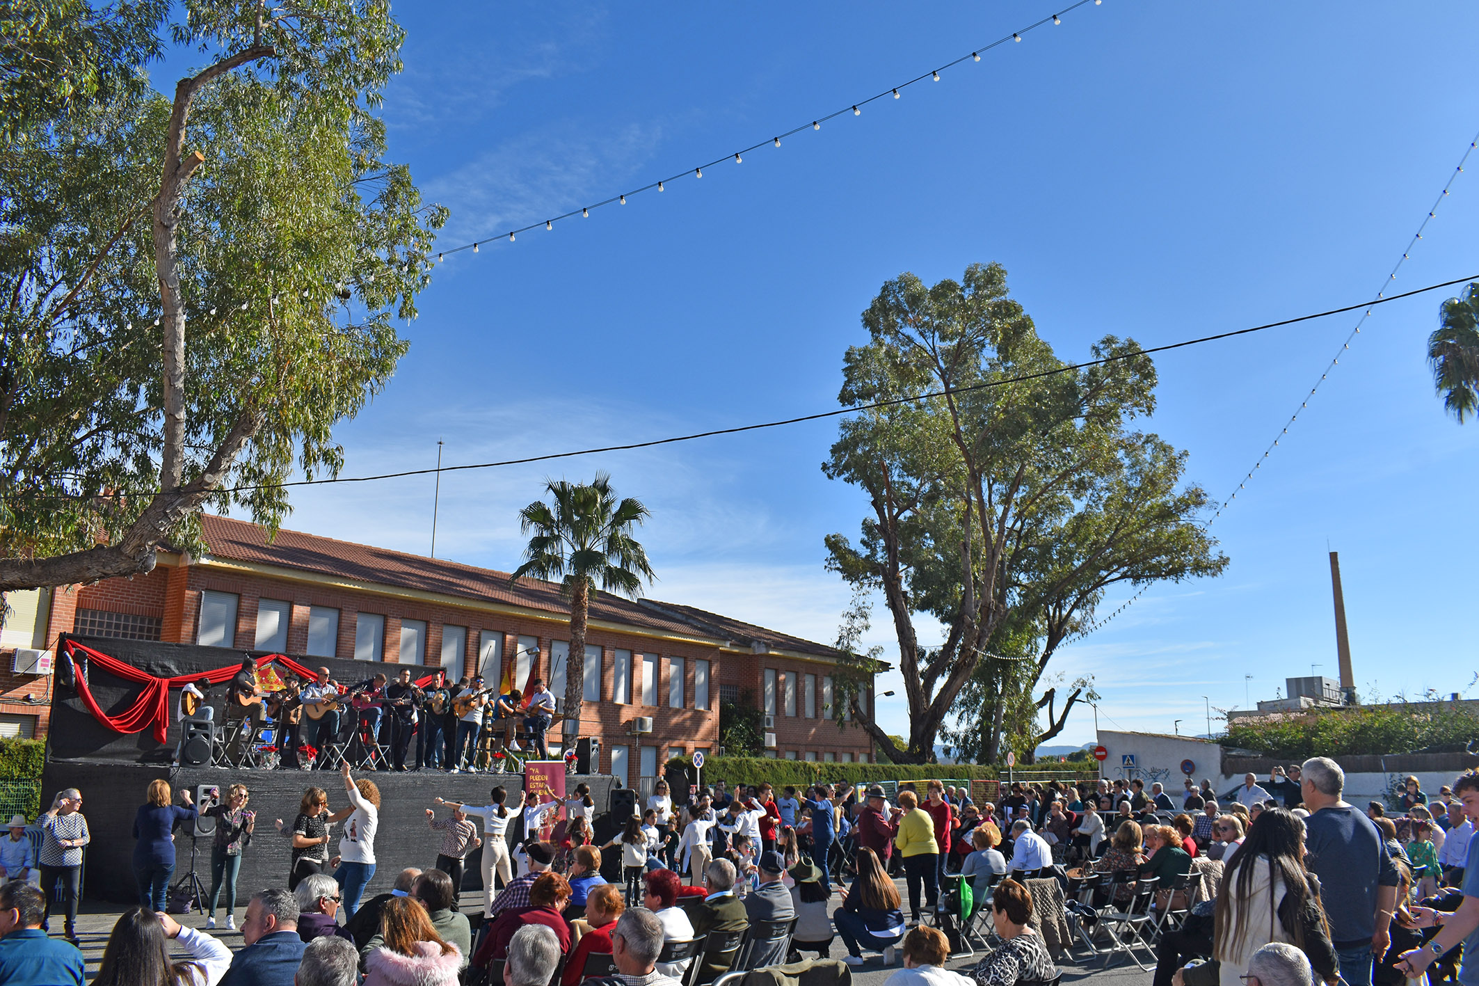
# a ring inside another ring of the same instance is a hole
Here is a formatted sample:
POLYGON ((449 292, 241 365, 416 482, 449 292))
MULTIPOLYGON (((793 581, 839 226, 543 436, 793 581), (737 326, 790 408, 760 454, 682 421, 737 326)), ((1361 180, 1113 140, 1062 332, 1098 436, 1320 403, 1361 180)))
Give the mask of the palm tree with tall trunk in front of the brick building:
POLYGON ((646 550, 632 538, 633 525, 648 517, 640 500, 617 501, 611 476, 596 473, 589 485, 547 480, 553 503, 535 500, 519 511, 519 532, 529 534, 524 565, 509 577, 561 581, 569 600, 569 656, 565 659, 565 735, 578 733, 586 679, 586 618, 598 590, 636 599, 643 582, 657 577, 646 550))

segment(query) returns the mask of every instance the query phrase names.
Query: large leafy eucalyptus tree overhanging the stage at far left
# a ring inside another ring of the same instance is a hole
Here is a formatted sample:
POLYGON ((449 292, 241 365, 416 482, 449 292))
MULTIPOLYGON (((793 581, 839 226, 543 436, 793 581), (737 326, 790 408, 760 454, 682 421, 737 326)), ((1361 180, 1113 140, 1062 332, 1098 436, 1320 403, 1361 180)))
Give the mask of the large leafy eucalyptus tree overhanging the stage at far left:
POLYGON ((386 0, 53 6, 115 28, 84 78, 142 77, 149 12, 203 68, 3 103, 0 590, 149 571, 207 504, 275 528, 405 353, 447 217, 386 160, 386 0))

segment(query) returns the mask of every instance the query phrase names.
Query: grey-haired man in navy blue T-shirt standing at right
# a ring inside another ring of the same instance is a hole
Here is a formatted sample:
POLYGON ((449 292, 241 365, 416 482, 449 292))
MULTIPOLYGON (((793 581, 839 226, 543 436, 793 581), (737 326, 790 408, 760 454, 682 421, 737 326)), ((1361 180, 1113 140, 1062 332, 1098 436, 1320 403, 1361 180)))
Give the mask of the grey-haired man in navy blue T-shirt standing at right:
MULTIPOLYGON (((1248 775, 1251 779, 1253 775, 1248 775)), ((1313 757, 1300 769, 1306 866, 1319 877, 1330 939, 1347 986, 1371 986, 1373 952, 1386 955, 1399 883, 1381 832, 1365 812, 1341 800, 1346 775, 1334 760, 1313 757)))

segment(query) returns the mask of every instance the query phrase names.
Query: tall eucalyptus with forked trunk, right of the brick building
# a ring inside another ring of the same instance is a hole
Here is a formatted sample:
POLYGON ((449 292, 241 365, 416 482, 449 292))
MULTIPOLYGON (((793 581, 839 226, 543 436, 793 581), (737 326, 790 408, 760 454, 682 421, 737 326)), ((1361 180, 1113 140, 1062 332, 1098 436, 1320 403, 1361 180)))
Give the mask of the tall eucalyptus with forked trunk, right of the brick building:
POLYGON ((997 724, 982 748, 995 760, 1012 696, 976 689, 970 708, 958 702, 994 643, 1038 642, 1016 683, 1031 689, 1109 585, 1216 575, 1226 559, 1197 525, 1205 494, 1180 485, 1185 454, 1128 427, 1155 408, 1155 367, 1134 341, 1106 336, 1094 365, 1063 364, 998 265, 933 287, 901 275, 862 322, 870 341, 847 349, 840 393, 859 411, 822 470, 862 489, 870 511, 856 544, 827 537, 827 565, 887 605, 907 747, 858 701, 876 655, 839 676, 845 701, 895 763, 930 760, 952 714, 997 724), (920 645, 917 619, 938 621, 939 646, 920 645))

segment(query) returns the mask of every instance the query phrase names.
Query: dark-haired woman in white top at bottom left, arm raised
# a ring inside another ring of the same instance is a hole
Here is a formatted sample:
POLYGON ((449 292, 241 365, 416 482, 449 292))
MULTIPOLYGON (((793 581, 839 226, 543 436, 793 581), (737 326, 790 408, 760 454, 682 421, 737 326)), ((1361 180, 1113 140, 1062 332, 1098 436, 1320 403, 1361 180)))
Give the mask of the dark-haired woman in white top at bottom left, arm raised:
POLYGON ((112 925, 93 986, 216 986, 231 968, 231 949, 167 914, 129 908, 112 925), (170 939, 189 959, 170 961, 170 939))

